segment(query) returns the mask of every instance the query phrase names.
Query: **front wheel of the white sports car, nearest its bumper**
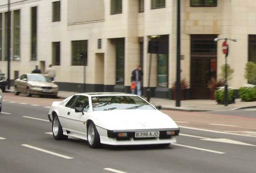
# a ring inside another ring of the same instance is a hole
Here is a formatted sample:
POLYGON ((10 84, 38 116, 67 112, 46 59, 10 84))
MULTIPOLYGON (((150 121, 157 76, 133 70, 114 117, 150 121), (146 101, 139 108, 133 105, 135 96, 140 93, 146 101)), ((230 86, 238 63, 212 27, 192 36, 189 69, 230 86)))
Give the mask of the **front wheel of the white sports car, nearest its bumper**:
POLYGON ((91 148, 99 148, 101 146, 99 133, 93 122, 90 122, 87 128, 87 141, 91 148))

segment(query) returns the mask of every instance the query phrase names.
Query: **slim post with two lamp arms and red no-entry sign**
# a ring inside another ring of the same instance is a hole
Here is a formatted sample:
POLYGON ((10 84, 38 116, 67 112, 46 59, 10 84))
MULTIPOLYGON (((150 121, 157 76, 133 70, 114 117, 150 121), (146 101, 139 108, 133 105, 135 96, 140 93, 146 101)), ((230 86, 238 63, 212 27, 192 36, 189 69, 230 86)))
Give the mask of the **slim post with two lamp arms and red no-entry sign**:
POLYGON ((224 98, 224 104, 225 106, 228 105, 228 86, 227 86, 227 56, 228 56, 228 44, 227 40, 231 40, 233 42, 237 42, 236 39, 231 39, 231 38, 215 38, 214 41, 217 42, 219 40, 225 40, 226 48, 223 48, 226 50, 225 52, 225 98, 224 98))

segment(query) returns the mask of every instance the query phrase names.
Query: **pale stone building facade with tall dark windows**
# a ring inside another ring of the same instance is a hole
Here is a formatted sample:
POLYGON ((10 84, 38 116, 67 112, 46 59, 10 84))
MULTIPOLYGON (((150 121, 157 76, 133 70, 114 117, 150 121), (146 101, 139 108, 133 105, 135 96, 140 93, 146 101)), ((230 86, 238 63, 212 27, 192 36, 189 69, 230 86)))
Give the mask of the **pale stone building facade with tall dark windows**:
MULTIPOLYGON (((207 83, 220 78, 225 56, 214 38, 229 42, 229 86, 247 83, 256 62, 255 0, 181 0, 181 78, 186 99, 209 99, 207 83)), ((13 81, 38 65, 56 69, 62 91, 130 92, 131 72, 144 72, 143 89, 173 99, 176 78, 176 0, 11 0, 13 81), (158 49, 148 53, 149 41, 158 49), (149 59, 152 56, 149 78, 149 59)), ((7 0, 0 0, 0 69, 7 72, 7 0)), ((145 93, 145 92, 144 92, 145 93)))

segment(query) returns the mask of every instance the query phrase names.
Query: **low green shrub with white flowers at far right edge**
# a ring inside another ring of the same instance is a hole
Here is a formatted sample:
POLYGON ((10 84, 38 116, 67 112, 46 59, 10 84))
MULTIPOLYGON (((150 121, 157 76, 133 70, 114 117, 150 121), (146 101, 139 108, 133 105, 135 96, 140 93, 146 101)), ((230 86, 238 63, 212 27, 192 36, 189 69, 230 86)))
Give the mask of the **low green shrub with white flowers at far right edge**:
POLYGON ((242 101, 255 101, 256 100, 256 87, 248 88, 248 87, 241 87, 238 90, 239 96, 242 101))

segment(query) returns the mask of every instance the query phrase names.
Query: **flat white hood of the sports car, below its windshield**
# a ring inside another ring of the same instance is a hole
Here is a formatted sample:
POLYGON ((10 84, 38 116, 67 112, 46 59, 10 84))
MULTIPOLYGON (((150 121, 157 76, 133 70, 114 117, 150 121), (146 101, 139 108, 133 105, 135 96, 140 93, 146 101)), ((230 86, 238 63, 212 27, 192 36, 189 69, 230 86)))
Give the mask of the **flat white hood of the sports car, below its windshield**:
POLYGON ((158 110, 113 110, 93 112, 95 125, 108 130, 177 129, 176 123, 158 110))

